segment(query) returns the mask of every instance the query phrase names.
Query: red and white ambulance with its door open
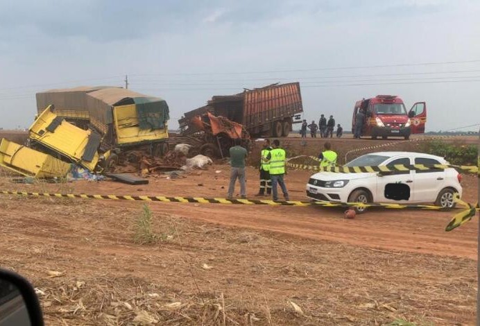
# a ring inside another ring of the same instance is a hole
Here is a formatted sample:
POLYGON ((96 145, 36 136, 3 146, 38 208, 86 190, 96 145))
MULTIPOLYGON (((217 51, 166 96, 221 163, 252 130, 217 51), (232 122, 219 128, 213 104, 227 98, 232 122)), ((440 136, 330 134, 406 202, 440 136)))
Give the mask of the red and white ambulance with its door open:
POLYGON ((402 98, 395 95, 377 95, 373 98, 363 98, 355 103, 352 119, 352 131, 355 129, 355 117, 359 110, 363 110, 362 136, 372 139, 382 137, 404 137, 409 139, 411 134, 425 132, 427 122, 427 103, 413 104, 406 112, 402 98))

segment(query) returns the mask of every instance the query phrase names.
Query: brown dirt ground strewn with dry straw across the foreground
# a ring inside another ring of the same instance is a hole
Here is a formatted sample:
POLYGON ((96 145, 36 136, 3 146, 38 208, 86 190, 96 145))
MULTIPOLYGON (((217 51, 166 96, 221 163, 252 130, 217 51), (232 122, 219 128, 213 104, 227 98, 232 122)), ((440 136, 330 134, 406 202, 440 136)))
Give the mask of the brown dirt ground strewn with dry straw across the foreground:
MULTIPOLYGON (((0 189, 226 195, 227 165, 196 174, 131 186, 18 185, 3 173, 0 189)), ((309 175, 289 172, 293 200, 306 199, 309 175)), ((254 168, 247 184, 255 194, 254 168)), ((477 178, 465 175, 463 187, 474 203, 477 178)), ((346 220, 320 207, 149 203, 158 242, 136 244, 143 205, 2 195, 0 266, 33 282, 47 325, 474 324, 476 219, 445 232, 452 212, 372 210, 346 220)))

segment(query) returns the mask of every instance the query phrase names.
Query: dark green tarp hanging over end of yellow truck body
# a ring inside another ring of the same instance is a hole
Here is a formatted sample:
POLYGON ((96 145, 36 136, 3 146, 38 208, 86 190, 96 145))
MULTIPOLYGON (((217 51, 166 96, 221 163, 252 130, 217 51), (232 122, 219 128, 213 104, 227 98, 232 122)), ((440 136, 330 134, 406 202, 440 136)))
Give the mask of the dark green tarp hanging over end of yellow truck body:
POLYGON ((169 105, 161 98, 135 97, 133 101, 137 107, 139 127, 142 130, 165 128, 169 121, 169 105))

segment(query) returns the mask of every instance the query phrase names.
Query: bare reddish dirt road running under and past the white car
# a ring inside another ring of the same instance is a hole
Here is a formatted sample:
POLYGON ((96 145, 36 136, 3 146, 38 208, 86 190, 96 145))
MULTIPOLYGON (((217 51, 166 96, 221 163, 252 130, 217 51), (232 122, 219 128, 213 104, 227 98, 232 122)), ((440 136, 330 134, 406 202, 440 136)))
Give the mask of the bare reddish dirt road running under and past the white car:
MULTIPOLYGON (((228 187, 228 166, 213 166, 201 175, 167 180, 152 177, 149 185, 131 186, 117 182, 76 181, 69 186, 76 194, 117 194, 152 196, 193 196, 225 198, 228 187), (221 171, 216 173, 215 171, 221 171), (223 187, 223 188, 222 188, 223 187)), ((307 200, 304 189, 310 173, 291 171, 286 178, 292 200, 307 200)), ((464 200, 474 203, 477 178, 463 178, 464 200)), ((257 171, 248 169, 248 195, 257 192, 257 171)), ((3 188, 11 187, 3 185, 3 188)), ((20 186, 31 191, 35 186, 20 186)), ((49 187, 49 186, 44 186, 49 187)), ((53 188, 54 186, 50 186, 53 188)), ((43 190, 43 189, 42 189, 43 190)), ((239 187, 237 185, 237 192, 239 187)), ((65 189, 62 191, 65 192, 65 189)), ((253 198, 253 196, 252 196, 253 198)), ((111 205, 137 205, 110 201, 111 205)), ((472 221, 452 232, 445 226, 458 212, 372 209, 354 220, 343 218, 343 209, 323 207, 272 207, 249 205, 212 205, 182 203, 152 203, 154 212, 194 218, 221 225, 279 232, 286 236, 323 239, 359 246, 431 253, 434 255, 477 257, 477 223, 472 221)))

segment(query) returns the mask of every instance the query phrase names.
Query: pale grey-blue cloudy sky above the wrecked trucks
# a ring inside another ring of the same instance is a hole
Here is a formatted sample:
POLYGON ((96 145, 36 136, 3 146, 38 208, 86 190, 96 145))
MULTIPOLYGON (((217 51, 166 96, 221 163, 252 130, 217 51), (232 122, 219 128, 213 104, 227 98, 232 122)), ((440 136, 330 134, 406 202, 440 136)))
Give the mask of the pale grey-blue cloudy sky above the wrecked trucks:
POLYGON ((476 0, 0 0, 0 128, 28 128, 36 92, 128 75, 171 129, 213 95, 299 81, 307 121, 350 130, 355 101, 394 94, 427 102, 427 131, 478 130, 478 17, 476 0))

